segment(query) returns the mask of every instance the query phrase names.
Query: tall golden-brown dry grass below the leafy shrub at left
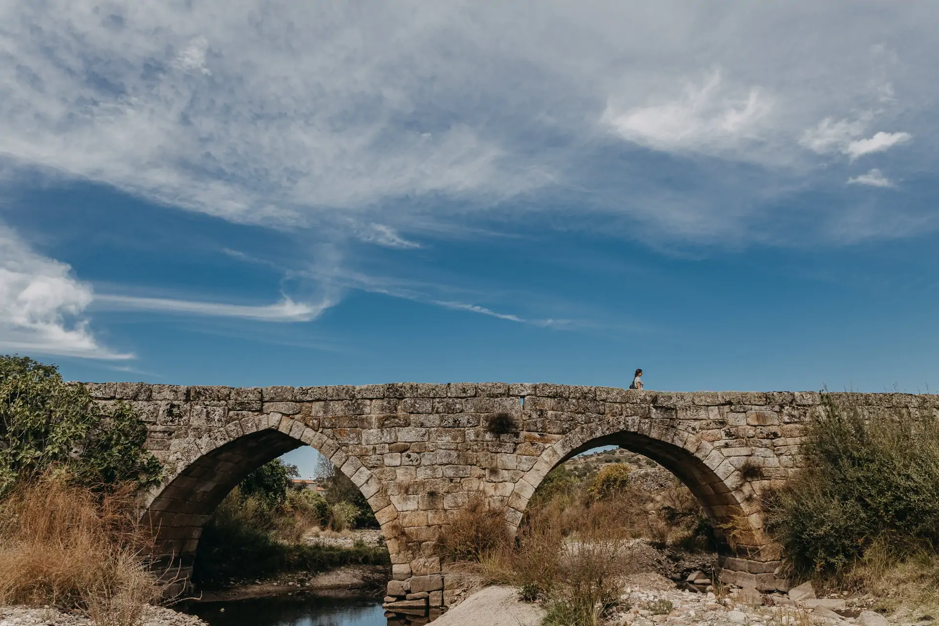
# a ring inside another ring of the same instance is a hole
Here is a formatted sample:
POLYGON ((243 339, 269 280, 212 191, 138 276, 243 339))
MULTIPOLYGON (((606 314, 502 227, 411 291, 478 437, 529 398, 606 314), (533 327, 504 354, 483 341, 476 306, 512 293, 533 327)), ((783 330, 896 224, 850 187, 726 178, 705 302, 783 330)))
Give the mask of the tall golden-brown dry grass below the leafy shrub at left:
POLYGON ((0 503, 0 604, 75 607, 101 626, 134 626, 160 595, 141 555, 149 532, 129 493, 95 496, 46 478, 0 503))

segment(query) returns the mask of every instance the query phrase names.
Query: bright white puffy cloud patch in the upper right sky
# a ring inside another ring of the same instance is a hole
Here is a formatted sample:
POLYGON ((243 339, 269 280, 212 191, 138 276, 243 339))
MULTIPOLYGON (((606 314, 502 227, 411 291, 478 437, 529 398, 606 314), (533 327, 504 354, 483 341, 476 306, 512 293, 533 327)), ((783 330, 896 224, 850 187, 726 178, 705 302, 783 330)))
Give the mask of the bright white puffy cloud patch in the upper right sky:
POLYGON ((603 120, 623 139, 663 150, 720 152, 744 140, 758 139, 759 123, 772 104, 751 87, 731 93, 719 71, 700 87, 685 86, 685 94, 662 104, 635 107, 620 113, 610 104, 603 120))

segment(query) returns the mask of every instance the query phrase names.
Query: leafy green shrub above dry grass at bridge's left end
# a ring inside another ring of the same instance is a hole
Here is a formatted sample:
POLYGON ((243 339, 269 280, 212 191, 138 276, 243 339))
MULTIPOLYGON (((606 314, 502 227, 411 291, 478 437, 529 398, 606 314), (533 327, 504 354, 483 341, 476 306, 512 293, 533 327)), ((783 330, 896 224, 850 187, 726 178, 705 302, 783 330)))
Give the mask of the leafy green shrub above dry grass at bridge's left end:
POLYGON ((54 365, 0 357, 0 496, 53 467, 98 490, 159 482, 162 468, 145 441, 132 405, 96 405, 54 365))

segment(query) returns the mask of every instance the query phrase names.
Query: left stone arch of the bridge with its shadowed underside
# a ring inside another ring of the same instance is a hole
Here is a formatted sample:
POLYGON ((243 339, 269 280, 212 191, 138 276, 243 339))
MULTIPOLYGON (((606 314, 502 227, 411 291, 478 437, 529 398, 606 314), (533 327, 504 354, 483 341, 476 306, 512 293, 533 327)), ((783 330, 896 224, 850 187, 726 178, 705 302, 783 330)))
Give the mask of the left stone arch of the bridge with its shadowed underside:
POLYGON ((330 459, 362 491, 375 512, 389 552, 402 534, 397 510, 380 481, 362 462, 303 421, 270 414, 230 422, 210 435, 183 440, 170 450, 175 469, 143 497, 142 519, 154 529, 151 567, 173 580, 168 593, 191 586, 202 527, 235 486, 254 469, 309 445, 330 459))

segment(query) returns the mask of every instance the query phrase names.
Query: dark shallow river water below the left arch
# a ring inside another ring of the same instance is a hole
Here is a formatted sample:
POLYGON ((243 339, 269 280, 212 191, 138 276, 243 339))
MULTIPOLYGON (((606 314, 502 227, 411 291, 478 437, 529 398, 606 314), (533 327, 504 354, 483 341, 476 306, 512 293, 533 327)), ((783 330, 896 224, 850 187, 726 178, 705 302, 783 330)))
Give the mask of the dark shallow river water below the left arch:
POLYGON ((210 626, 386 626, 381 603, 372 598, 276 596, 196 603, 185 613, 210 626))

